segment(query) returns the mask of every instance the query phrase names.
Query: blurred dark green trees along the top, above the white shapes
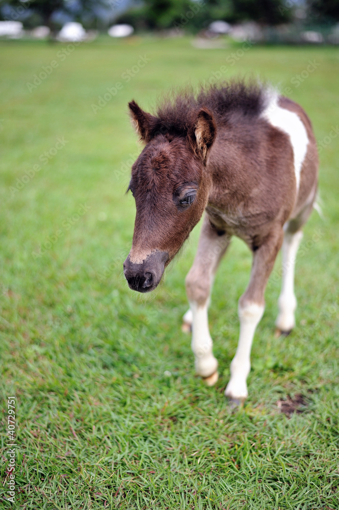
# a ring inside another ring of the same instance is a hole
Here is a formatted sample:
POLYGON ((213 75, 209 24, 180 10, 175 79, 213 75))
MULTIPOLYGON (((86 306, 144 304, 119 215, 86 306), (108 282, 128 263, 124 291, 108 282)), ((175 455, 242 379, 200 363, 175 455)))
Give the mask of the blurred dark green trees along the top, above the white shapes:
POLYGON ((2 19, 50 28, 75 20, 87 28, 120 22, 137 30, 182 28, 197 32, 214 20, 286 23, 293 20, 297 9, 304 9, 314 23, 339 21, 339 0, 0 0, 2 19))

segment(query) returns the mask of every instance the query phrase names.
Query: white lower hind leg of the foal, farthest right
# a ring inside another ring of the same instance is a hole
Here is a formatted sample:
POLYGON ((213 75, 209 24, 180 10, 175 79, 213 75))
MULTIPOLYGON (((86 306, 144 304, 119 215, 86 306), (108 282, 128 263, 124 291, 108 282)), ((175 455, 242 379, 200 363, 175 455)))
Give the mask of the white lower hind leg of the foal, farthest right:
POLYGON ((285 232, 282 243, 282 286, 278 299, 279 315, 275 322, 280 331, 287 333, 295 326, 294 312, 297 299, 294 294, 294 268, 302 232, 290 234, 285 232))

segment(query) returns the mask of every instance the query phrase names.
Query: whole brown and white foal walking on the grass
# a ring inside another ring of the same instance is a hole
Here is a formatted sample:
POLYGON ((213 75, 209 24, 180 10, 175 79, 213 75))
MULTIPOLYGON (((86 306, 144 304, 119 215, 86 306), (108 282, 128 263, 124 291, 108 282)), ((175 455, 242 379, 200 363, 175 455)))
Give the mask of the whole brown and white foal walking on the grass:
POLYGON ((124 262, 131 289, 148 292, 205 211, 198 251, 186 278, 197 374, 213 385, 207 307, 213 278, 231 236, 253 253, 249 285, 239 300, 240 338, 226 396, 248 395, 250 351, 264 313, 264 291, 282 246, 282 289, 276 326, 295 326, 294 263, 317 192, 318 155, 303 109, 269 88, 233 82, 179 94, 156 115, 132 101, 145 147, 129 189, 137 207, 132 249, 124 262))

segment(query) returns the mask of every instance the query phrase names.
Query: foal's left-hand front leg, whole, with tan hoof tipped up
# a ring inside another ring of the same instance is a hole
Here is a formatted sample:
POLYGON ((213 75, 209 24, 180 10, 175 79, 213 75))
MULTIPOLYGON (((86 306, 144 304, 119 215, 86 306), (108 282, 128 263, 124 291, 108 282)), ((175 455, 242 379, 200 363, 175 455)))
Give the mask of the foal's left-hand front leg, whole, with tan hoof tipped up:
MULTIPOLYGON (((186 291, 192 320, 192 350, 195 371, 212 386, 218 379, 218 362, 213 355, 213 342, 208 329, 207 309, 214 274, 229 244, 229 236, 217 231, 207 216, 201 228, 198 250, 192 268, 186 277, 186 291)), ((185 320, 185 319, 184 319, 185 320)))

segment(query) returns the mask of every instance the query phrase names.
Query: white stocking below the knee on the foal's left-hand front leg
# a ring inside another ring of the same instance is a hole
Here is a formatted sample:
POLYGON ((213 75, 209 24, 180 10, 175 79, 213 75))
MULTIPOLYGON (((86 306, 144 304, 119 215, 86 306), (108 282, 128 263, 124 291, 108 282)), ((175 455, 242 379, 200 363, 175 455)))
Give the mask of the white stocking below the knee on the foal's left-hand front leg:
POLYGON ((218 362, 212 347, 213 342, 208 329, 207 303, 198 305, 190 302, 192 311, 192 343, 195 358, 195 371, 201 377, 209 377, 217 371, 218 362))

